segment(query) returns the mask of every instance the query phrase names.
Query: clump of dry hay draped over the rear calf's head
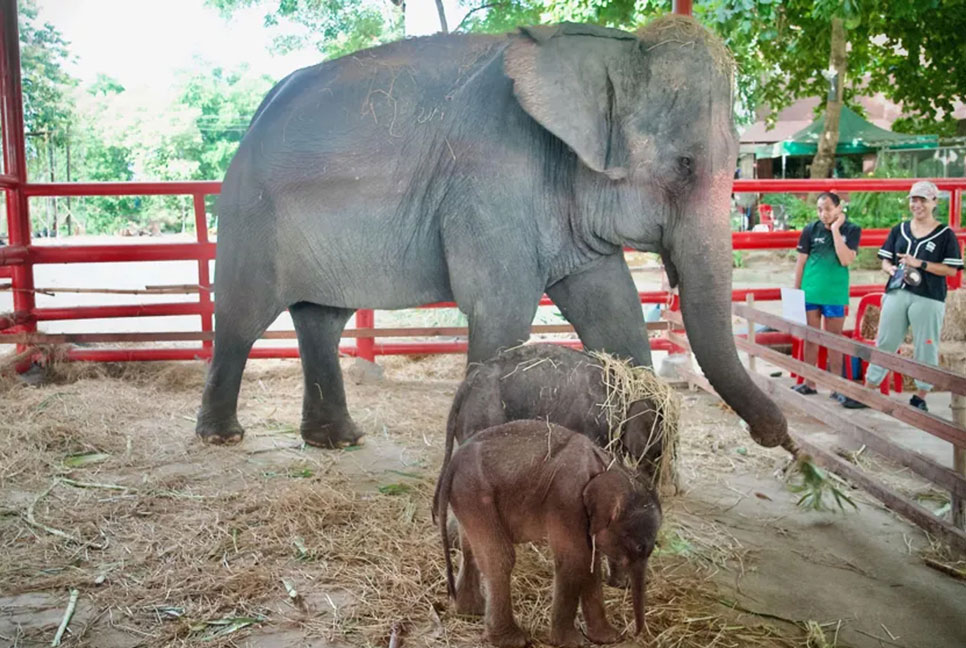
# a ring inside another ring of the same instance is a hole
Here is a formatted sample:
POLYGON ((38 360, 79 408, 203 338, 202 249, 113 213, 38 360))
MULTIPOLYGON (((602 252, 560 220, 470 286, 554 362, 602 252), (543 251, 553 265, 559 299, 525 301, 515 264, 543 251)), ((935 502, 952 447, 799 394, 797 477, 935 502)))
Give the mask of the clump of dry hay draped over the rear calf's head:
POLYGON ((638 470, 645 460, 647 449, 661 444, 663 452, 656 470, 652 472, 652 483, 662 497, 677 492, 678 437, 681 421, 681 397, 649 367, 634 366, 626 360, 615 358, 607 353, 593 352, 591 355, 600 363, 603 380, 607 386, 607 400, 601 405, 607 415, 610 441, 607 450, 618 456, 629 468, 638 470), (630 406, 635 401, 646 401, 657 413, 655 424, 648 436, 645 456, 632 457, 620 452, 620 436, 630 406))

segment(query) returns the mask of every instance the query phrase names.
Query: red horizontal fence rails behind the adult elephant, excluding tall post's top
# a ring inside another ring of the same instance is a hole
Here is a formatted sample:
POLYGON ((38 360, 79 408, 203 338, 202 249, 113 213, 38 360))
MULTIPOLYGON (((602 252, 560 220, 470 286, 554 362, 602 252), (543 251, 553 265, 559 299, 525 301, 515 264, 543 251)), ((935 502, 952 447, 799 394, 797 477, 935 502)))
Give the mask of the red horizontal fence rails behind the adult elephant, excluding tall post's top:
MULTIPOLYGON (((218 182, 124 182, 124 183, 43 183, 28 184, 5 178, 9 183, 8 221, 11 223, 11 246, 0 248, 0 270, 12 279, 14 289, 14 312, 0 318, 0 333, 25 333, 36 331, 38 322, 53 320, 77 320, 117 317, 157 317, 173 315, 197 315, 200 317, 200 330, 211 333, 213 326, 214 304, 211 299, 211 281, 208 276, 209 262, 215 258, 215 243, 208 240, 205 198, 217 194, 218 182), (10 194, 15 194, 11 196, 10 194), (22 200, 17 200, 19 195, 22 200), (197 241, 194 243, 148 243, 130 245, 59 245, 37 246, 30 240, 29 218, 24 218, 28 198, 48 196, 128 196, 128 195, 187 195, 191 196, 194 206, 194 222, 197 241), (11 198, 14 198, 11 200, 11 198), (14 244, 14 221, 23 220, 17 231, 14 244), (24 234, 26 239, 24 240, 24 234), (198 266, 198 299, 190 302, 127 304, 109 306, 84 306, 70 308, 38 308, 33 294, 33 267, 38 264, 55 263, 118 263, 137 261, 194 261, 198 266)), ((829 180, 738 180, 735 192, 816 192, 825 190, 847 191, 907 191, 914 179, 829 179, 829 180)), ((966 231, 961 227, 962 191, 966 189, 966 179, 934 179, 941 189, 951 194, 950 224, 957 229, 961 240, 966 239, 966 231)), ((887 229, 863 232, 863 247, 878 247, 888 234, 887 229)), ((736 232, 732 235, 732 245, 736 250, 748 249, 790 249, 798 241, 799 232, 736 232)), ((3 275, 0 275, 3 276, 3 275)), ((878 292, 881 286, 853 286, 852 296, 878 292)), ((756 301, 781 299, 780 288, 754 288, 735 290, 732 299, 741 302, 748 295, 756 301)), ((672 304, 672 296, 665 291, 645 291, 639 294, 641 303, 672 304)), ((544 298, 542 305, 550 305, 544 298)), ((453 307, 452 302, 430 304, 425 307, 453 307)), ((356 315, 356 327, 373 329, 374 313, 360 310, 356 315)), ((159 334, 159 337, 160 336, 159 334)), ((77 360, 174 360, 209 358, 211 356, 211 336, 204 336, 200 347, 177 349, 74 349, 69 357, 77 360)), ((674 351, 677 347, 666 339, 653 340, 659 350, 674 351)), ((375 337, 356 336, 354 345, 342 347, 347 355, 359 355, 372 359, 377 355, 390 354, 429 354, 461 353, 466 349, 462 342, 400 342, 378 343, 375 337)), ((298 350, 291 347, 256 348, 252 357, 297 357, 298 350)))

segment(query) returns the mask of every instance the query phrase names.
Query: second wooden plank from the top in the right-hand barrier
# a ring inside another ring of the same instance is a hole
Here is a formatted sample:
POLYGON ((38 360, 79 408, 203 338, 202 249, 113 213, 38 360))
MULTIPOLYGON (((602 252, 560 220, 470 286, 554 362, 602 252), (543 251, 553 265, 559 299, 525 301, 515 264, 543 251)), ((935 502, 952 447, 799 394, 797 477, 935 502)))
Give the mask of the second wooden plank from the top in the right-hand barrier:
POLYGON ((949 441, 961 448, 966 448, 966 430, 938 416, 923 412, 912 405, 892 400, 888 396, 879 393, 878 390, 866 389, 859 383, 836 376, 818 367, 805 364, 790 356, 772 351, 768 347, 763 347, 760 344, 752 344, 743 338, 735 338, 735 344, 742 351, 753 353, 777 367, 794 371, 800 376, 814 380, 819 385, 831 387, 840 394, 854 398, 860 403, 865 403, 884 414, 888 414, 893 418, 897 418, 900 421, 915 426, 940 439, 949 441))

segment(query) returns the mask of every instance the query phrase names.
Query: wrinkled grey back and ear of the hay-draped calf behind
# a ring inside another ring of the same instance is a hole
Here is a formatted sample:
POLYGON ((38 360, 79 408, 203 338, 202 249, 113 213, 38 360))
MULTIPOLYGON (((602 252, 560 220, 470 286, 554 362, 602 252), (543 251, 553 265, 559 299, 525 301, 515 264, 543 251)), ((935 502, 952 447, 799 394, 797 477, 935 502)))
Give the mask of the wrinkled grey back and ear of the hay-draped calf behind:
MULTIPOLYGON (((443 470, 454 441, 463 443, 480 430, 517 419, 557 423, 606 448, 610 427, 603 407, 607 402, 604 379, 599 360, 547 343, 515 347, 470 365, 446 423, 443 470)), ((640 460, 642 476, 650 480, 663 452, 663 419, 646 400, 631 403, 622 418, 626 423, 619 446, 611 450, 640 460)))

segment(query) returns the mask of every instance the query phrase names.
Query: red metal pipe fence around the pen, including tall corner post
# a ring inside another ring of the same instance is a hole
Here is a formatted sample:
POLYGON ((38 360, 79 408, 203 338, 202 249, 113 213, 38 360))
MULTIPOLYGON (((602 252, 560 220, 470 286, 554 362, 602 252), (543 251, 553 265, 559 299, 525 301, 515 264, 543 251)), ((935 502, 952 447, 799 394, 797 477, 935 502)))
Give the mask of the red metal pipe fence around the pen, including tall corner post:
MULTIPOLYGON (((198 341, 192 348, 116 348, 72 349, 69 358, 75 360, 184 360, 209 358, 212 347, 213 302, 211 298, 210 261, 215 257, 215 244, 208 240, 205 214, 205 197, 217 194, 219 182, 164 182, 164 183, 30 183, 27 179, 23 100, 20 83, 20 51, 17 29, 16 0, 0 0, 0 118, 3 131, 3 170, 0 189, 6 193, 9 245, 0 246, 0 278, 10 279, 13 291, 13 312, 0 316, 0 342, 16 341, 21 350, 24 345, 39 338, 37 323, 52 320, 77 320, 92 318, 155 317, 196 315, 200 328, 196 332, 139 333, 139 334, 87 334, 86 336, 61 336, 64 341, 83 339, 87 342, 164 342, 198 341), (188 195, 194 204, 195 232, 193 243, 150 243, 134 245, 63 245, 37 246, 33 244, 30 231, 29 199, 36 197, 66 196, 130 196, 130 195, 188 195), (198 299, 192 302, 152 304, 128 304, 84 306, 72 308, 38 308, 35 300, 34 267, 51 263, 119 263, 134 261, 194 261, 198 267, 198 299)), ((907 191, 911 179, 855 179, 855 180, 739 180, 735 192, 816 192, 834 189, 845 191, 907 191)), ((956 228, 960 240, 966 239, 961 228, 962 192, 966 179, 936 179, 940 189, 951 192, 950 224, 956 228)), ((897 214, 897 217, 899 215, 897 214)), ((862 245, 876 247, 885 240, 888 230, 870 230, 863 233, 862 245)), ((736 250, 791 249, 798 240, 798 232, 740 232, 733 235, 736 250)), ((956 281, 960 279, 957 277, 956 281)), ((958 285, 958 284, 957 284, 958 285)), ((881 290, 879 285, 853 286, 853 296, 881 290)), ((780 299, 779 288, 756 288, 734 291, 734 301, 744 301, 754 295, 757 301, 780 299)), ((664 291, 640 293, 642 303, 670 304, 676 301, 664 291)), ((551 302, 544 298, 541 304, 551 302)), ((452 307, 441 303, 429 307, 452 307)), ((458 353, 466 349, 461 342, 408 342, 380 343, 377 337, 405 337, 414 334, 436 333, 452 335, 454 329, 376 329, 371 310, 356 314, 355 329, 347 330, 345 337, 356 338, 356 343, 342 351, 372 359, 376 355, 458 353), (392 333, 392 335, 389 335, 392 333)), ((653 328, 653 327, 652 327, 653 328)), ((560 332, 563 326, 537 326, 536 332, 560 332)), ((269 332, 265 338, 291 338, 294 332, 269 332)), ((761 339, 761 337, 759 337, 761 339)), ((669 340, 653 340, 653 348, 676 350, 669 340)), ((294 347, 255 348, 252 357, 296 357, 294 347)))

